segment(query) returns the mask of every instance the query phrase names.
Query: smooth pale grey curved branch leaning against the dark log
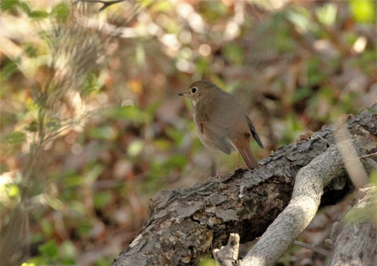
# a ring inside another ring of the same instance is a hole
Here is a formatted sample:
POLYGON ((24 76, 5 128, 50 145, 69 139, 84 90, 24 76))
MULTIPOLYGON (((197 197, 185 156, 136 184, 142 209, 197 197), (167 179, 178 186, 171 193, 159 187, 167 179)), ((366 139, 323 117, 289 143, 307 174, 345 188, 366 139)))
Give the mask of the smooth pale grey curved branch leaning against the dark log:
MULTIPOLYGON (((357 154, 361 155, 360 148, 354 146, 349 139, 331 145, 327 151, 301 168, 297 173, 292 198, 287 208, 277 216, 245 258, 239 261, 239 265, 273 265, 287 251, 290 244, 316 215, 324 186, 333 178, 346 175, 341 150, 356 151, 355 158, 357 154)), ((362 159, 362 163, 366 174, 371 174, 377 169, 377 163, 370 158, 362 159)))

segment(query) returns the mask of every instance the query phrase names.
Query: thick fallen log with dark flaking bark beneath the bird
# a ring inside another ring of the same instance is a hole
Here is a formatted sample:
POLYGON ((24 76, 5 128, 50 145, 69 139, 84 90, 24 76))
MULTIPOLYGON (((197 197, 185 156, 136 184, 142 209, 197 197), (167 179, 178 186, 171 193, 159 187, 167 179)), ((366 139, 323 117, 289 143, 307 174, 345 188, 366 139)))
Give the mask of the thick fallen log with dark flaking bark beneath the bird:
MULTIPOLYGON (((347 124, 365 154, 377 151, 376 115, 349 115, 347 124)), ((241 243, 261 236, 289 203, 299 169, 332 144, 333 128, 323 126, 313 137, 264 158, 258 170, 155 194, 149 219, 113 265, 192 265, 225 244, 230 233, 238 233, 241 243)), ((339 175, 325 187, 321 204, 334 204, 352 190, 348 175, 339 175)))

